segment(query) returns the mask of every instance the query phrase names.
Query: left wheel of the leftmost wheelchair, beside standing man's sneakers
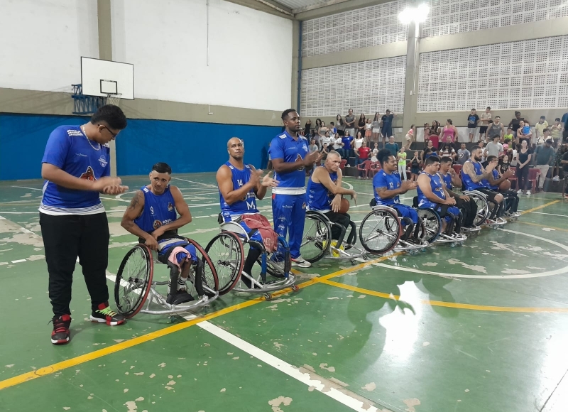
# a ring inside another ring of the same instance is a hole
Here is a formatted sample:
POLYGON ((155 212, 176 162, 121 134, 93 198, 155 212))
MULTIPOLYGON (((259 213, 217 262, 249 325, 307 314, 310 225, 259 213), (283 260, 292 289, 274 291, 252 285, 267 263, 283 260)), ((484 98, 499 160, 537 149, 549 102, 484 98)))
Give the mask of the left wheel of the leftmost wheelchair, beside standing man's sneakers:
POLYGON ((153 273, 152 252, 145 244, 137 244, 122 259, 114 283, 114 301, 125 318, 132 318, 142 309, 152 286, 153 273))

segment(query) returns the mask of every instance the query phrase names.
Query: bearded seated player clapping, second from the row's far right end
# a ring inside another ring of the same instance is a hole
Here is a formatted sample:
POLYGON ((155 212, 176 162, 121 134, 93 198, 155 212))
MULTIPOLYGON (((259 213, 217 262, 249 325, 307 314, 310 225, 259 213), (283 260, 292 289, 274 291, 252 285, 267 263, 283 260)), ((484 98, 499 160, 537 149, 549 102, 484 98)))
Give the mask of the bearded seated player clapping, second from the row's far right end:
POLYGON ((496 162, 487 165, 487 168, 481 165, 481 156, 483 149, 479 146, 471 148, 471 158, 469 158, 464 167, 461 168, 461 181, 464 183, 465 190, 478 190, 487 196, 489 202, 493 203, 493 210, 489 219, 496 219, 503 215, 503 195, 484 185, 484 180, 488 180, 493 176, 493 168, 497 166, 496 162))

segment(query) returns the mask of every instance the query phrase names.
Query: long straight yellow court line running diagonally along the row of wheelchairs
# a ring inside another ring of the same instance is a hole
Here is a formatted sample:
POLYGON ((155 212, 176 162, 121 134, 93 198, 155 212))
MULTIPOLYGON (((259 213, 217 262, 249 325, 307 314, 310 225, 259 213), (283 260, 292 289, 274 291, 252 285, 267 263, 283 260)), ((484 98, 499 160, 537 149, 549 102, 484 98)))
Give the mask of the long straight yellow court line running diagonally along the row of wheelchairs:
MULTIPOLYGON (((345 273, 349 273, 349 272, 352 272, 352 271, 363 269, 366 266, 376 264, 380 261, 384 261, 384 260, 389 259, 392 256, 396 256, 398 254, 400 254, 400 252, 395 253, 395 254, 391 254, 390 256, 382 256, 378 259, 366 261, 362 264, 352 266, 349 269, 342 269, 341 271, 329 273, 329 275, 322 276, 320 278, 312 278, 309 281, 306 281, 304 283, 300 283, 300 285, 297 285, 297 287, 300 288, 300 289, 306 288, 307 286, 314 285, 315 283, 320 283, 320 282, 325 281, 329 278, 334 278, 336 276, 342 276, 345 273)), ((300 272, 294 271, 294 273, 300 273, 300 272)), ((289 293, 291 291, 292 291, 292 288, 286 288, 286 289, 283 289, 282 291, 274 292, 274 293, 272 293, 272 295, 273 296, 279 296, 279 295, 283 295, 285 293, 289 293)), ((99 349, 99 350, 96 350, 94 352, 82 354, 78 357, 73 357, 71 359, 66 359, 62 362, 58 362, 56 364, 49 365, 48 367, 36 369, 35 371, 26 372, 25 374, 21 374, 21 375, 18 375, 18 376, 13 376, 9 379, 4 379, 4 381, 0 381, 0 391, 2 389, 9 388, 10 386, 16 386, 18 384, 23 384, 23 382, 31 381, 31 380, 37 379, 41 376, 47 376, 47 375, 53 374, 53 373, 58 372, 62 369, 75 367, 78 364, 82 364, 84 362, 89 362, 89 361, 92 361, 93 359, 97 359, 99 357, 107 356, 107 354, 113 354, 113 353, 116 353, 116 352, 120 352, 121 350, 128 349, 129 347, 133 347, 133 346, 136 346, 136 345, 140 345, 141 343, 148 342, 148 341, 156 339, 158 337, 170 335, 171 333, 178 332, 179 330, 186 329, 187 327, 196 325, 197 323, 203 322, 204 320, 210 320, 210 319, 218 318, 219 316, 226 315, 227 313, 231 313, 231 312, 235 312, 236 310, 248 308, 249 306, 256 305, 256 304, 264 302, 264 301, 265 300, 263 298, 256 298, 256 299, 247 300, 246 302, 238 303, 236 305, 229 306, 229 308, 224 308, 224 309, 221 309, 221 310, 217 310, 217 312, 213 312, 213 313, 209 313, 207 315, 203 315, 200 318, 187 320, 186 322, 178 323, 177 325, 164 327, 163 329, 156 330, 155 332, 150 332, 146 335, 141 335, 141 336, 135 337, 131 340, 126 340, 124 342, 117 343, 116 345, 105 347, 103 349, 99 349)))

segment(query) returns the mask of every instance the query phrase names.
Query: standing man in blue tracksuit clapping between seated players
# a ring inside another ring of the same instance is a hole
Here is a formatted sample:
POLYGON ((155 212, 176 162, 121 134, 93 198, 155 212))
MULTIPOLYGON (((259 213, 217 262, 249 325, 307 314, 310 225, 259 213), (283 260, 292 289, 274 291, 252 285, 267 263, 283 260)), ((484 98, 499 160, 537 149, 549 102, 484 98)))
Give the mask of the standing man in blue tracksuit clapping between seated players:
POLYGON ((272 215, 274 230, 281 237, 290 232, 288 246, 292 266, 309 268, 310 262, 300 256, 300 244, 304 234, 306 215, 306 173, 319 162, 318 152, 308 154, 307 140, 300 136, 300 114, 295 109, 282 113, 284 132, 279 134, 271 143, 271 158, 274 166, 275 180, 279 184, 272 189, 272 215))

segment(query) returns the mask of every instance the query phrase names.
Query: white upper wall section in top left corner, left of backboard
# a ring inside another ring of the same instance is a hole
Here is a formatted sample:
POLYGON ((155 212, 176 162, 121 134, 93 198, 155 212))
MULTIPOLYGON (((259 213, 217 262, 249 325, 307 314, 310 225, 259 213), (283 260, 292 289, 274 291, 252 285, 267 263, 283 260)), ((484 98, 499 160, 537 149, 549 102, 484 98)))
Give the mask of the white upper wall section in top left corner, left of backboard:
POLYGON ((99 58, 97 1, 0 0, 0 87, 70 92, 99 58))

